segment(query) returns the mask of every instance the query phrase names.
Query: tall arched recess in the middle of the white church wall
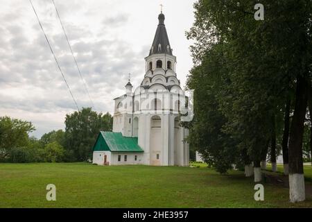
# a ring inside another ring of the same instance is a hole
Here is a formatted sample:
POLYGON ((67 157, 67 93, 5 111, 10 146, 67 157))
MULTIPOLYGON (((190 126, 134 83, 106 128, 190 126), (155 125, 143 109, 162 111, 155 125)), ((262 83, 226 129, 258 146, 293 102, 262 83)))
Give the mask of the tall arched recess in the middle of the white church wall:
POLYGON ((150 119, 150 164, 162 164, 162 119, 153 116, 150 119))

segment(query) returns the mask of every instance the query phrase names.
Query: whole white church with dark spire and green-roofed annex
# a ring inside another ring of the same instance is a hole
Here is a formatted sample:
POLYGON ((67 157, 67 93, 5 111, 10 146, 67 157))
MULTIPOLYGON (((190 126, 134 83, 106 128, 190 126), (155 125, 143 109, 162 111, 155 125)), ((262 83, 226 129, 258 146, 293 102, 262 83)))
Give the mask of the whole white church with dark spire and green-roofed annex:
POLYGON ((93 147, 98 165, 145 164, 189 166, 187 128, 181 126, 186 96, 175 72, 164 14, 146 61, 146 74, 134 91, 129 82, 125 94, 114 99, 112 132, 100 132, 93 147))

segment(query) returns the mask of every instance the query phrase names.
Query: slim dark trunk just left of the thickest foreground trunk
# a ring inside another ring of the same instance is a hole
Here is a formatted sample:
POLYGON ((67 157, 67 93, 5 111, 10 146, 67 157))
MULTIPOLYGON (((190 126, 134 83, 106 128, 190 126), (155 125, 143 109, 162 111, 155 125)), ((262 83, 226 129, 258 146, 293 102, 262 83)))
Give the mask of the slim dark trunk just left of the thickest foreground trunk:
POLYGON ((281 149, 283 151, 284 174, 288 175, 288 137, 289 137, 289 115, 291 114, 291 100, 287 99, 284 115, 284 132, 281 149))

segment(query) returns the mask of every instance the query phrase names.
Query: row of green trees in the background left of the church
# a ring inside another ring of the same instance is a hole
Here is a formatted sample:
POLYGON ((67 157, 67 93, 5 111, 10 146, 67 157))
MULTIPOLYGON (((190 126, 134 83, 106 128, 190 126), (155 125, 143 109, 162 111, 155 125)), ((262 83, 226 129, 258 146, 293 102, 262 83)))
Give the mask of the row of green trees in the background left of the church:
POLYGON ((0 162, 75 162, 92 156, 100 130, 112 130, 112 116, 91 108, 67 114, 66 131, 52 130, 38 140, 29 137, 32 123, 0 117, 0 162))

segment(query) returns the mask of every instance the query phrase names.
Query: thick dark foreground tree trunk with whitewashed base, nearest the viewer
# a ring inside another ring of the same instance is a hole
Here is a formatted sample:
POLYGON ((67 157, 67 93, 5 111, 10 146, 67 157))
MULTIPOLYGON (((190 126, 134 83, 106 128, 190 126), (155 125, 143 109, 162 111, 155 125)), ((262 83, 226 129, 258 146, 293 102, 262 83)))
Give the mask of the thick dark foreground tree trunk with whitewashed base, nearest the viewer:
POLYGON ((302 136, 304 133, 304 117, 306 114, 306 82, 302 76, 297 77, 295 111, 291 121, 289 138, 289 196, 291 203, 305 199, 304 172, 302 161, 302 136))

